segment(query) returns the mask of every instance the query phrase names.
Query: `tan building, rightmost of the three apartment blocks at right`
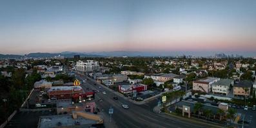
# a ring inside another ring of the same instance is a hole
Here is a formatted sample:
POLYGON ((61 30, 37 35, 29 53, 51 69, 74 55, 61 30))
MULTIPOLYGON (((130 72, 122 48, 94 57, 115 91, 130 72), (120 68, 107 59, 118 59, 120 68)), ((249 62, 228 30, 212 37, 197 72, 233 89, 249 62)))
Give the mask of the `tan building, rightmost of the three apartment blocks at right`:
POLYGON ((237 83, 233 86, 233 95, 235 97, 237 97, 237 96, 248 97, 248 96, 250 96, 251 86, 252 86, 251 81, 246 81, 246 80, 239 81, 239 83, 237 83))

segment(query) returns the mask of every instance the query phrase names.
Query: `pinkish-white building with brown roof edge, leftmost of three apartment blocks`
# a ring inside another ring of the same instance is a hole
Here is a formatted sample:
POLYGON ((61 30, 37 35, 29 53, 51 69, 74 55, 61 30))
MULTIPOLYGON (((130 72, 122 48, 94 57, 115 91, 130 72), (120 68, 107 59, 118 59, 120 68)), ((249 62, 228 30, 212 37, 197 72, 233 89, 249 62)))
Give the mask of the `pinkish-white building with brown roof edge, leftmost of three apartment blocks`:
POLYGON ((209 93, 212 91, 212 84, 219 81, 220 78, 207 77, 198 81, 193 81, 193 91, 209 93))

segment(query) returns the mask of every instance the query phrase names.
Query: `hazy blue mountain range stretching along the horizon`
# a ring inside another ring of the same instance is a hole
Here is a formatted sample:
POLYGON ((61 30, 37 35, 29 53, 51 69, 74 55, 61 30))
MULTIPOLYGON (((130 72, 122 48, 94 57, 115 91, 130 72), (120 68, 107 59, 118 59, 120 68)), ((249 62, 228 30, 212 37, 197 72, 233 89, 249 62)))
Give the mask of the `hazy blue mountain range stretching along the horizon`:
MULTIPOLYGON (((140 51, 111 51, 111 52, 72 52, 72 51, 64 51, 64 52, 56 52, 56 53, 49 53, 49 52, 32 52, 26 55, 28 58, 50 58, 54 56, 64 56, 64 58, 73 58, 74 55, 80 55, 82 58, 84 57, 107 57, 107 56, 130 56, 130 57, 135 57, 135 56, 203 56, 203 57, 211 57, 212 55, 215 54, 216 56, 217 52, 211 52, 211 51, 192 51, 192 52, 182 52, 182 51, 170 51, 170 52, 165 52, 165 51, 159 51, 159 52, 140 52, 140 51)), ((236 55, 237 52, 228 52, 225 55, 236 55)), ((253 57, 256 52, 240 52, 240 54, 244 57, 253 57)), ((3 58, 24 58, 25 56, 23 55, 17 55, 17 54, 0 54, 0 59, 3 58)), ((213 56, 214 57, 214 56, 213 56)))

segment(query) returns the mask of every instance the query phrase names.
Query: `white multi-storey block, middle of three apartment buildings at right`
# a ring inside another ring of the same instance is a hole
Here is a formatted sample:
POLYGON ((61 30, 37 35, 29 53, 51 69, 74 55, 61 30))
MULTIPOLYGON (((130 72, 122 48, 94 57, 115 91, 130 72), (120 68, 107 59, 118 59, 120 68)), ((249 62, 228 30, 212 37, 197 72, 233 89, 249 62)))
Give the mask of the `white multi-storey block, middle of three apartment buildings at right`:
POLYGON ((233 79, 221 79, 220 81, 212 84, 212 92, 228 95, 230 92, 230 86, 233 86, 233 84, 233 79))

